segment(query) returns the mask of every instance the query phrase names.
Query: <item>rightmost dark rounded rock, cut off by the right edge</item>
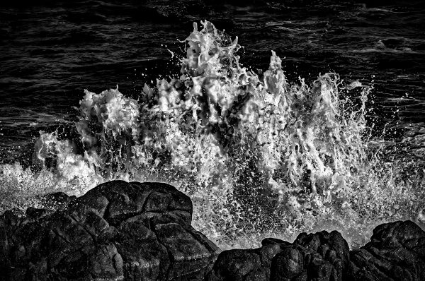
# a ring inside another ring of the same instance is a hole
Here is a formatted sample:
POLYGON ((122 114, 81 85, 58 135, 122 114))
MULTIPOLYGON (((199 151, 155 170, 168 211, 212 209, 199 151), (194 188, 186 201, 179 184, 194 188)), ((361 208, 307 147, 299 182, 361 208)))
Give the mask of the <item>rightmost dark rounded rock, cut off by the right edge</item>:
POLYGON ((350 253, 353 280, 425 280, 425 232, 414 222, 379 225, 370 240, 350 253))

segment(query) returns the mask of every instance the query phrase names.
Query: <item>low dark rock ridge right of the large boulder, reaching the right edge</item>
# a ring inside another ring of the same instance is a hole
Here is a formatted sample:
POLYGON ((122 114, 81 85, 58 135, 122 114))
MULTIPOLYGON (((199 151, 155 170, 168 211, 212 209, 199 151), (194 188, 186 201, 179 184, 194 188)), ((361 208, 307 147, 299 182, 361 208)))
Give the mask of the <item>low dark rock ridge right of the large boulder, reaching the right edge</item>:
POLYGON ((349 251, 339 232, 300 234, 290 244, 264 239, 259 249, 222 251, 208 281, 425 280, 425 232, 414 222, 392 222, 349 251))

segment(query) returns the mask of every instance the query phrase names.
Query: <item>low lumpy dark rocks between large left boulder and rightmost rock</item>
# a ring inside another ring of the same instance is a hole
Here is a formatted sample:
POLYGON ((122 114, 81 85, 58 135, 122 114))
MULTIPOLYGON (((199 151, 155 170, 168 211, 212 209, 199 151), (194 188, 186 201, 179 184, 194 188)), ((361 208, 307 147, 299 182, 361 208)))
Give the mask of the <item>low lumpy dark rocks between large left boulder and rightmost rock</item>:
POLYGON ((345 280, 349 249, 339 232, 302 233, 293 244, 267 238, 261 244, 222 251, 207 280, 345 280))

